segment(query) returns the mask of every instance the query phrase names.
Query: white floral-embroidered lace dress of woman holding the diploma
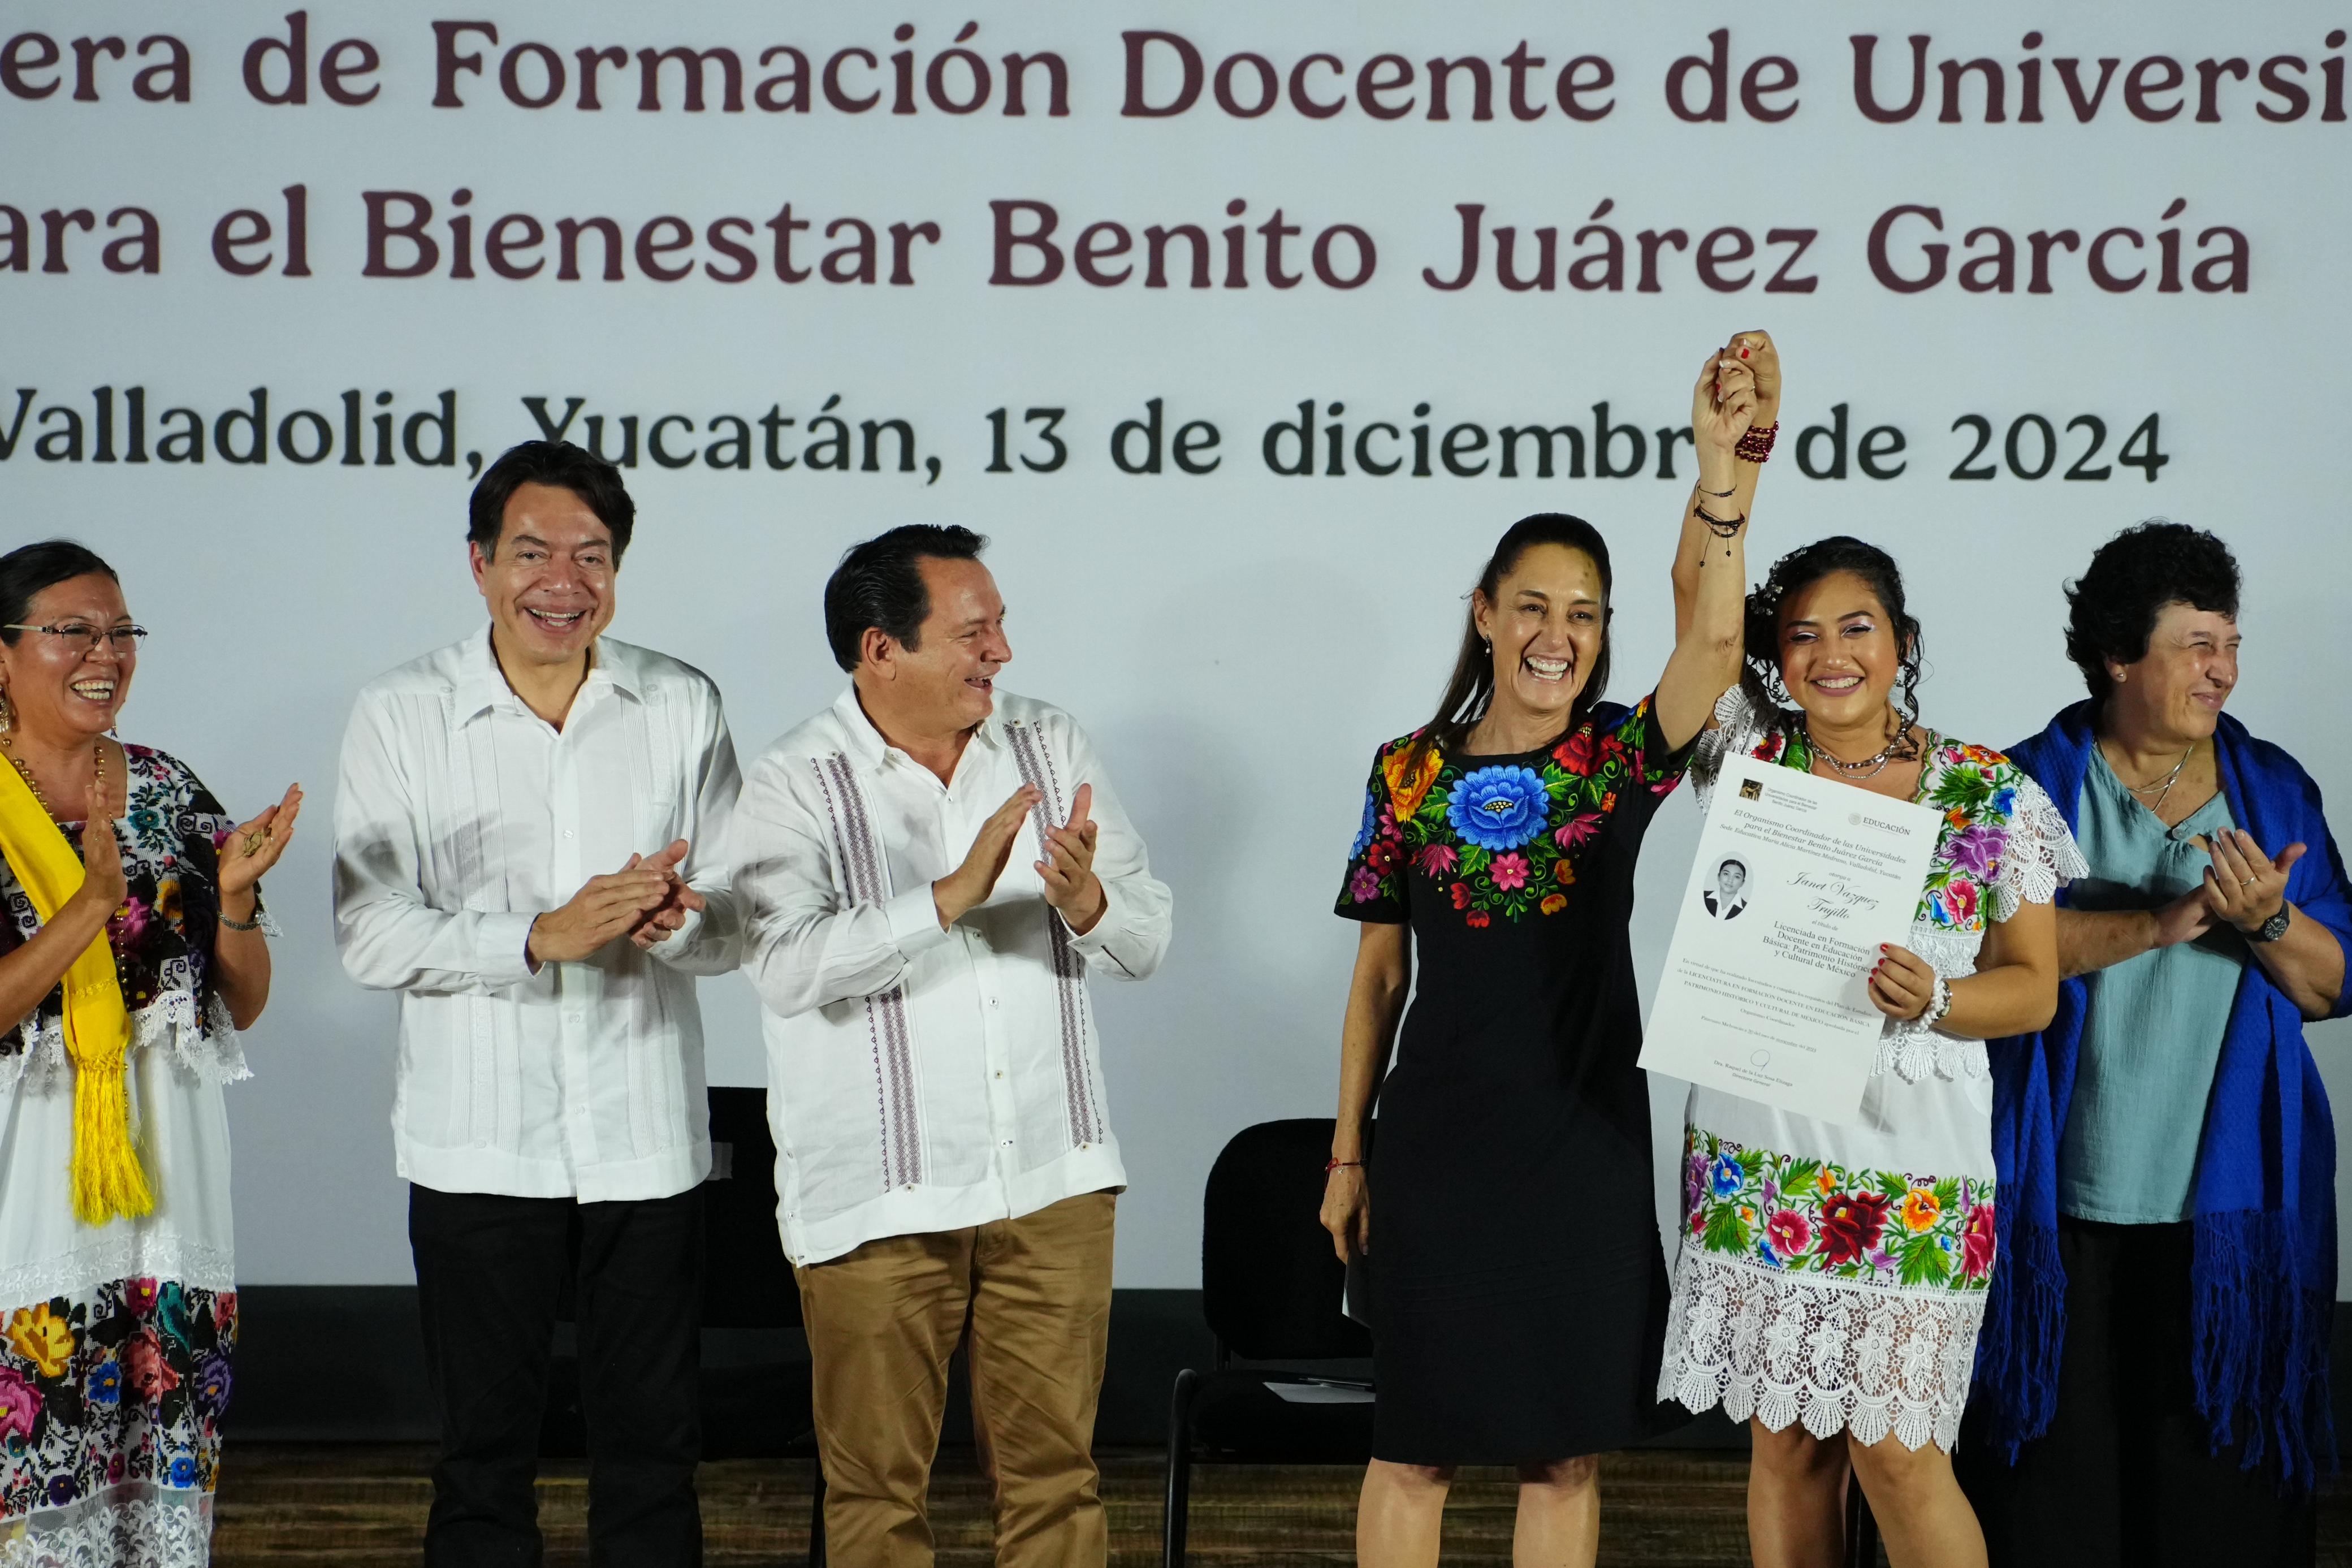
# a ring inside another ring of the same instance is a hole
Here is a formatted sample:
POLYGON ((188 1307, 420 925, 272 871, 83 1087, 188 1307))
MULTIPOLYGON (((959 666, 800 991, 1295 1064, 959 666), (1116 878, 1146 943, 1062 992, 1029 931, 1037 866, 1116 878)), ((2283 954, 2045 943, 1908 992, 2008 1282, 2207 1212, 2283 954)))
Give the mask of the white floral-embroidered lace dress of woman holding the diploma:
MULTIPOLYGON (((1795 724, 1738 686, 1715 717, 1691 762, 1700 806, 1726 755, 1809 764, 1795 724)), ((1915 799, 1945 823, 1903 945, 1959 980, 1987 919, 2051 903, 2086 867, 2002 752, 1931 736, 1915 799)), ((1985 1041, 1889 1020, 1858 1124, 1696 1086, 1686 1124, 1658 1399, 1950 1450, 1994 1265, 1985 1041)))

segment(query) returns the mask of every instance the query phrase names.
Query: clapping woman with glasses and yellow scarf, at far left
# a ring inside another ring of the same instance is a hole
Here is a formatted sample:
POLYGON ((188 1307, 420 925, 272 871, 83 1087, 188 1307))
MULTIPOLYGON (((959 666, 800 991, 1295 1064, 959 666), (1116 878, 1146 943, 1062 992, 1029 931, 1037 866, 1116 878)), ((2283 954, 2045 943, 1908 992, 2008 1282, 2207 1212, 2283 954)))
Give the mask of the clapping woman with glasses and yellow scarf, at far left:
POLYGON ((0 844, 64 835, 82 860, 49 919, 0 863, 0 1568, 181 1568, 212 1542, 238 1338, 221 1086, 268 1001, 259 879, 301 790, 240 825, 181 762, 108 741, 141 637, 89 550, 0 557, 0 844), (101 1070, 68 1051, 59 980, 101 933, 153 1211, 92 1225, 68 1173, 75 1079, 101 1070))

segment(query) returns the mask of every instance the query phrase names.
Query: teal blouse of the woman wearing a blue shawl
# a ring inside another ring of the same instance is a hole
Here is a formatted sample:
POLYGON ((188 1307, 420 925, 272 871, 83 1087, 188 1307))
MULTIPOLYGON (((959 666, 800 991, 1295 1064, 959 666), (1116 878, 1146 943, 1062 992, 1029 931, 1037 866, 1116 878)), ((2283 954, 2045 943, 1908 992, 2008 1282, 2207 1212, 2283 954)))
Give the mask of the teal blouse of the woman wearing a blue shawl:
MULTIPOLYGON (((2093 745, 2074 842, 2091 875, 2077 910, 2152 910, 2204 879, 2209 835, 2237 823, 2213 795, 2166 827, 2093 745)), ((2143 952, 2084 976, 2074 1100, 2058 1145, 2058 1211, 2110 1225, 2185 1220, 2213 1065, 2230 1025, 2246 943, 2216 926, 2194 943, 2143 952)))

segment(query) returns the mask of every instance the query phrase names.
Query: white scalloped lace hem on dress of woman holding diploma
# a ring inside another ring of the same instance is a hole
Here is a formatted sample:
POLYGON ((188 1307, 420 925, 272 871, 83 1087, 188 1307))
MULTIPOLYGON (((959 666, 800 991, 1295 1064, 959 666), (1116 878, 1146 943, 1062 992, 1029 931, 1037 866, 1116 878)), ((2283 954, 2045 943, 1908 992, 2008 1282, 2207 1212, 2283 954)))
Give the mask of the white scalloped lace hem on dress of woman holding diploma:
POLYGON ((1983 1295, 1886 1291, 1750 1269, 1684 1248, 1658 1399, 1790 1422, 1818 1439, 1959 1441, 1983 1295))

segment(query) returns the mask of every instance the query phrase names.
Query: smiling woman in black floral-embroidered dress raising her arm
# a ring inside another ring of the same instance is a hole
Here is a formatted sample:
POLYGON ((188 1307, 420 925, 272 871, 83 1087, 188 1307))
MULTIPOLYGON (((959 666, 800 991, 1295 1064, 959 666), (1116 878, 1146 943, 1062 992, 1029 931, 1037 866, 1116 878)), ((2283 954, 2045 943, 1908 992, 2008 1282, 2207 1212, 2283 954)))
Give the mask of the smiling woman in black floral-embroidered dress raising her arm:
POLYGON ((1632 865, 1738 677, 1740 531, 1769 447, 1752 423, 1778 390, 1759 331, 1698 374, 1698 487, 1653 696, 1599 701, 1609 550, 1592 524, 1541 512, 1479 574, 1435 719, 1374 762, 1338 896, 1362 938, 1322 1206, 1341 1258, 1364 1255, 1374 1321, 1367 1568, 1437 1561, 1456 1465, 1519 1472, 1515 1561, 1592 1563, 1592 1455, 1658 1427, 1668 1291, 1635 1067, 1632 865))

